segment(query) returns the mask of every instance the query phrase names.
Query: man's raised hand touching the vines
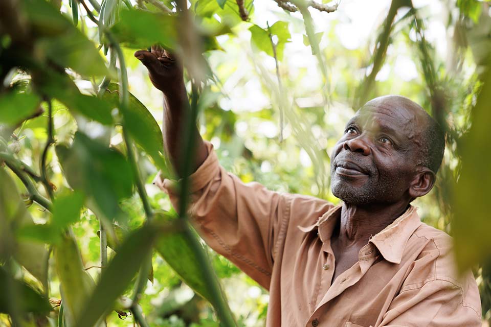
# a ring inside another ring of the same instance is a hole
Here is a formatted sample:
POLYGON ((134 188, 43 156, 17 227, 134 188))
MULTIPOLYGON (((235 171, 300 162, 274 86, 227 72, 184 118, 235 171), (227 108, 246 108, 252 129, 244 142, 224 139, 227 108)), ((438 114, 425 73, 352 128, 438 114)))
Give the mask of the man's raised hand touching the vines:
POLYGON ((153 86, 164 92, 167 98, 186 95, 183 66, 168 51, 152 46, 151 52, 140 50, 135 52, 135 57, 147 67, 153 86))

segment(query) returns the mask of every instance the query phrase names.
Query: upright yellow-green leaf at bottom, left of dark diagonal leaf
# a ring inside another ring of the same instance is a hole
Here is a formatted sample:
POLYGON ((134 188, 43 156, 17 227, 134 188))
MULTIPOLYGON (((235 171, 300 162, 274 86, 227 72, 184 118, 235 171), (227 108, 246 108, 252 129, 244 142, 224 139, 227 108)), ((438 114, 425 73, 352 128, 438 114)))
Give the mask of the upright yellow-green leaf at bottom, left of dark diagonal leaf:
POLYGON ((84 270, 80 250, 72 233, 63 235, 60 245, 54 247, 53 254, 60 278, 64 316, 68 324, 73 325, 94 288, 94 282, 84 270))

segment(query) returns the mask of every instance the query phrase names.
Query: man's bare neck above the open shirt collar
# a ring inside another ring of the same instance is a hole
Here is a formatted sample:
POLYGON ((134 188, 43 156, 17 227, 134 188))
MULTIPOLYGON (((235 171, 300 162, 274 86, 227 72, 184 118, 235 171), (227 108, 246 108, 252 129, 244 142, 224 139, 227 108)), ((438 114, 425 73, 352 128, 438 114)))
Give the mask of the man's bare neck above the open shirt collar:
POLYGON ((341 245, 361 246, 368 243, 370 237, 390 225, 404 214, 409 203, 394 203, 384 206, 356 206, 343 203, 337 241, 341 245))

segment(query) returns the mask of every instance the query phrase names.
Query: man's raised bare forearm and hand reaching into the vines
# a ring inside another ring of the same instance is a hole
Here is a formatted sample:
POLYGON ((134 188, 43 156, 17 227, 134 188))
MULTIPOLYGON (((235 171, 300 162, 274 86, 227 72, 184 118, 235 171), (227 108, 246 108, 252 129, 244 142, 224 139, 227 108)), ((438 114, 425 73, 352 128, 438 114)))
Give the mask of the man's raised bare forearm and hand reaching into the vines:
MULTIPOLYGON (((151 51, 137 51, 135 57, 148 68, 148 76, 153 86, 164 94, 164 146, 175 172, 179 177, 183 177, 182 149, 185 147, 182 144, 182 131, 191 114, 184 85, 183 66, 167 51, 157 46, 152 46, 151 51)), ((191 132, 196 138, 196 152, 191 167, 191 172, 194 172, 205 161, 208 150, 197 127, 191 132)))

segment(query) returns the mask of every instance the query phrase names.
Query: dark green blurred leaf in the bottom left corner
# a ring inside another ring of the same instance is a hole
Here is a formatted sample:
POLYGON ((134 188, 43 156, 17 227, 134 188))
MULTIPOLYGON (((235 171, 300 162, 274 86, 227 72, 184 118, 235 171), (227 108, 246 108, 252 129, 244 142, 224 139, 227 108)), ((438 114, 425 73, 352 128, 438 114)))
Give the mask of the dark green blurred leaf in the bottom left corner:
POLYGON ((4 267, 0 266, 0 313, 11 313, 17 305, 22 312, 48 314, 53 309, 46 297, 39 294, 24 282, 13 279, 4 267), (15 299, 12 299, 12 296, 15 299))

